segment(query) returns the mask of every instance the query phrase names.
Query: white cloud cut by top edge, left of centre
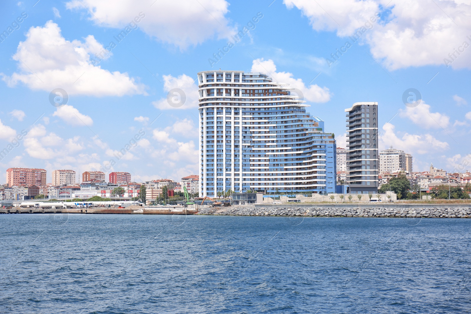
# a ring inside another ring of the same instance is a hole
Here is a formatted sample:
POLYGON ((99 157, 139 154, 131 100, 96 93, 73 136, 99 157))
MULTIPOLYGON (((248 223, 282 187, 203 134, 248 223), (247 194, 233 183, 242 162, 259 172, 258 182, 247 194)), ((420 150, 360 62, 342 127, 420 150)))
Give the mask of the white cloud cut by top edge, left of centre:
MULTIPOLYGON (((81 9, 98 26, 124 29, 135 18, 138 27, 151 37, 181 49, 214 38, 229 38, 235 33, 226 18, 228 5, 225 0, 72 0, 68 9, 81 9), (103 23, 103 24, 102 24, 103 23)), ((131 25, 134 26, 134 25, 131 25)), ((134 26, 135 27, 135 26, 134 26)))

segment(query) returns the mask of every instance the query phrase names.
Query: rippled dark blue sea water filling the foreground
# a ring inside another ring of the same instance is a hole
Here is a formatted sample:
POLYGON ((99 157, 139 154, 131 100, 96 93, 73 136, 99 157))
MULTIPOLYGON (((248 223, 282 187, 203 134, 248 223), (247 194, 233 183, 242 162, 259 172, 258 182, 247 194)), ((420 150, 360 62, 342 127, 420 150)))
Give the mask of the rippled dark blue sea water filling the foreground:
POLYGON ((471 219, 0 215, 0 313, 470 313, 471 219))

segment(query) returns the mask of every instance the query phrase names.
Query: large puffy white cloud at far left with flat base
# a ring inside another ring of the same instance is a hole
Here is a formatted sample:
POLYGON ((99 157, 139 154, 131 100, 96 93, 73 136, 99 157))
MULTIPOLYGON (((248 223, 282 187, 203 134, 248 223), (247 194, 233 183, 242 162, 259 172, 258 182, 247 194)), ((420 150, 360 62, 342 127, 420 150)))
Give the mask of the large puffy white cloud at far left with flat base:
POLYGON ((30 89, 62 88, 69 95, 145 94, 144 85, 136 83, 127 73, 109 72, 90 63, 90 55, 103 49, 92 35, 83 42, 65 40, 59 26, 48 21, 44 27, 29 29, 26 40, 19 43, 13 56, 18 61, 19 72, 11 76, 2 74, 3 80, 10 87, 22 82, 30 89))

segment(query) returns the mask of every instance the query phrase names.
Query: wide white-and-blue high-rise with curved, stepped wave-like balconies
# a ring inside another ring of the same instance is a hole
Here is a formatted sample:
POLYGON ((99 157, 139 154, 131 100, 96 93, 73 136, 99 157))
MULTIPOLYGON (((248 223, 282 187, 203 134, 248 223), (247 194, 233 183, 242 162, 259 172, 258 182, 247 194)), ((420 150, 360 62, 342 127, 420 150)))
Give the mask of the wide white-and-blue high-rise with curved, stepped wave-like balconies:
POLYGON ((200 196, 335 192, 335 139, 264 73, 198 73, 200 196))

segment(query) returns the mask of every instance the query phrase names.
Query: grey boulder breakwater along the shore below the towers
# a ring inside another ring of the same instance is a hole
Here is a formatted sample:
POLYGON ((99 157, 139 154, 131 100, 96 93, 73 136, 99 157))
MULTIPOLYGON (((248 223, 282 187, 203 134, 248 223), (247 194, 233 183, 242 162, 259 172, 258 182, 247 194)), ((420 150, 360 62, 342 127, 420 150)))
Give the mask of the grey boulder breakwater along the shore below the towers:
POLYGON ((306 216, 306 217, 429 217, 429 218, 468 218, 471 208, 299 208, 299 207, 227 207, 203 208, 198 215, 223 216, 306 216))

